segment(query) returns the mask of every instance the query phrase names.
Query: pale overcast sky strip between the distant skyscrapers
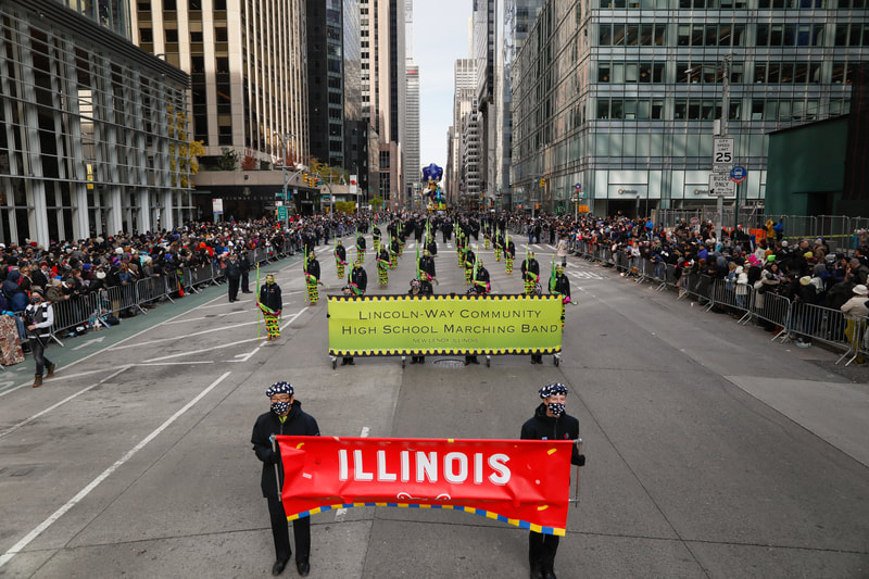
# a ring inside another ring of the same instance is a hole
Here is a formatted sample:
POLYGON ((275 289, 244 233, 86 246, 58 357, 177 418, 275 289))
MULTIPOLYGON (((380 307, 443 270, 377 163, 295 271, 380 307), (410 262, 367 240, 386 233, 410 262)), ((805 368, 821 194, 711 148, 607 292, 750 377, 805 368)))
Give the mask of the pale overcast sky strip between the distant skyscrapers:
MULTIPOLYGON (((419 162, 446 169, 453 117, 453 65, 468 58, 471 0, 414 0, 414 61, 419 65, 419 162)), ((421 178, 421 177, 416 177, 421 178)))

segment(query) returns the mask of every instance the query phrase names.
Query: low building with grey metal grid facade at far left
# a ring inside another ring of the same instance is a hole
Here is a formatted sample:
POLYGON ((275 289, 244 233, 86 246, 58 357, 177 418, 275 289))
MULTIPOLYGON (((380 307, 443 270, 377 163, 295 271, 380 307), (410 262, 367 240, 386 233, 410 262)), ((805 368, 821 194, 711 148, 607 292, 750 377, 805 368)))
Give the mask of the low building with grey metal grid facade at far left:
POLYGON ((130 43, 125 14, 118 2, 0 2, 3 243, 189 217, 189 77, 130 43))

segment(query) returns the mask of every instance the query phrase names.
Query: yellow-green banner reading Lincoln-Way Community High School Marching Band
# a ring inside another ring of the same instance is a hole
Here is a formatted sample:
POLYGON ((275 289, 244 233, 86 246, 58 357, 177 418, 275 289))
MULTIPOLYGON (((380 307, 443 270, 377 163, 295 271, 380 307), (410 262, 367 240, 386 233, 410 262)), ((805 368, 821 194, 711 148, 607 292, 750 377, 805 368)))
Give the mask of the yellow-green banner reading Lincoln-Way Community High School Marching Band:
POLYGON ((329 295, 329 354, 554 354, 558 295, 329 295))

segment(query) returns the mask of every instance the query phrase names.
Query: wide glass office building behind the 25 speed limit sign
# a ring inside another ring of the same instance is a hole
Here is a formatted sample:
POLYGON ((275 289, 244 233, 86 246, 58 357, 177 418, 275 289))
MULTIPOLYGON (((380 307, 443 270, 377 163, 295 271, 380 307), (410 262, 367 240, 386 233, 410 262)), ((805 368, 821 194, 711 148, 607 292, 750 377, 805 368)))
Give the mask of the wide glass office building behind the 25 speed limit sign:
POLYGON ((767 135, 847 113, 867 51, 864 0, 550 0, 513 68, 514 204, 572 213, 576 185, 597 215, 714 203, 717 128, 740 204, 761 203, 767 135))

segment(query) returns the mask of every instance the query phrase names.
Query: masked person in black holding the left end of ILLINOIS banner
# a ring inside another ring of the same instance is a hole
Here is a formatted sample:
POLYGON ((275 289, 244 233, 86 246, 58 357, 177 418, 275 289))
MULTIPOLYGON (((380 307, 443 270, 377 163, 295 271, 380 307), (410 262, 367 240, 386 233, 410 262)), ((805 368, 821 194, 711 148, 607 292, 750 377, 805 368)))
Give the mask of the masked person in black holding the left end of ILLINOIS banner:
MULTIPOLYGON (((302 403, 295 400, 292 385, 275 382, 265 395, 272 401, 272 408, 256 418, 253 426, 251 443, 256 457, 263 462, 263 475, 260 486, 263 496, 268 500, 268 515, 272 518, 272 537, 275 540, 275 565, 272 575, 280 575, 292 555, 290 549, 290 530, 287 527, 287 513, 280 502, 284 488, 284 465, 280 449, 272 446, 273 435, 318 437, 317 420, 302 412, 302 403), (277 477, 280 477, 280 488, 277 477)), ((292 533, 295 539, 295 568, 299 575, 306 576, 311 571, 311 517, 302 517, 292 521, 292 533)))

